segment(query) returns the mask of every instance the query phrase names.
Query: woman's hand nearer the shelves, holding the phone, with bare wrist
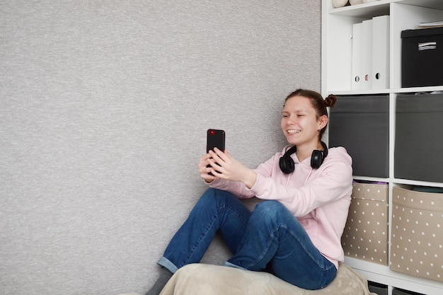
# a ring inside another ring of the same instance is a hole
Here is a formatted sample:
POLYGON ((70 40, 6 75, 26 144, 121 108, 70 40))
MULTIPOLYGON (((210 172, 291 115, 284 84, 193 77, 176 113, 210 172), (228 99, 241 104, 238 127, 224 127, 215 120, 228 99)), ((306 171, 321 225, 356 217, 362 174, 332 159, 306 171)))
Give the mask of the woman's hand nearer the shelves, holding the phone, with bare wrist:
POLYGON ((240 181, 248 188, 253 187, 257 174, 250 168, 244 166, 242 163, 236 161, 228 151, 220 151, 215 148, 214 151, 209 151, 212 158, 209 158, 209 165, 211 173, 217 178, 240 181))

